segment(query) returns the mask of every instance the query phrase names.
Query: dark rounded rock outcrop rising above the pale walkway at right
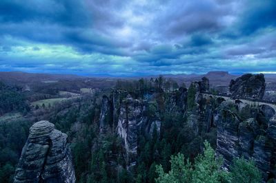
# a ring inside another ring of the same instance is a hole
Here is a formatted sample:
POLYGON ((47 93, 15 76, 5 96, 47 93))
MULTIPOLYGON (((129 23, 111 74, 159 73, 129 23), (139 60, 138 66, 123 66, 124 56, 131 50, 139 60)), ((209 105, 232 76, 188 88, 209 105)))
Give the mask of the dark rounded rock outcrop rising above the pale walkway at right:
POLYGON ((236 80, 231 80, 229 85, 233 98, 262 99, 265 89, 264 74, 244 74, 236 80))

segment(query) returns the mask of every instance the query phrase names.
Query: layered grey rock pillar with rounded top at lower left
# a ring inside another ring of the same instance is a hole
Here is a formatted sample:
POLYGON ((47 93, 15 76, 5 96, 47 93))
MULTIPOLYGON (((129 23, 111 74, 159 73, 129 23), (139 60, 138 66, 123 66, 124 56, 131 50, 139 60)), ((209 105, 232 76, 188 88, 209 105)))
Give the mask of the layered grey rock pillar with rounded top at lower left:
POLYGON ((30 127, 14 182, 75 182, 67 136, 41 120, 30 127))

